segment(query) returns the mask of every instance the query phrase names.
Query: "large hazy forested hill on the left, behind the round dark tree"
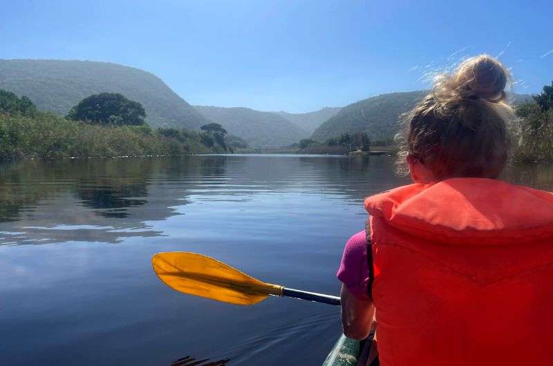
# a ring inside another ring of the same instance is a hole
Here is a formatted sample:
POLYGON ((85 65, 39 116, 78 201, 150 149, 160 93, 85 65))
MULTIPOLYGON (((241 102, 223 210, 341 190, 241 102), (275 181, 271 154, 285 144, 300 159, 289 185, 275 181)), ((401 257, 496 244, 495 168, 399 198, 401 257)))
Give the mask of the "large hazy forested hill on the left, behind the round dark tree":
POLYGON ((40 110, 59 115, 85 97, 109 92, 140 102, 152 127, 197 129, 209 123, 156 75, 107 62, 0 59, 0 89, 26 95, 40 110))

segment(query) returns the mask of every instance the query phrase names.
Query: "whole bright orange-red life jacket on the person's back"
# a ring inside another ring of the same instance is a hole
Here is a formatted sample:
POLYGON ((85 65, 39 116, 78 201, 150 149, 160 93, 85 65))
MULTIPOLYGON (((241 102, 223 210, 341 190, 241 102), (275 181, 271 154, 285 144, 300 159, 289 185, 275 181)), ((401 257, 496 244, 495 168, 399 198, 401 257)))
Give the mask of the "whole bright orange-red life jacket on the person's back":
POLYGON ((553 365, 553 193, 454 178, 365 208, 382 366, 553 365))

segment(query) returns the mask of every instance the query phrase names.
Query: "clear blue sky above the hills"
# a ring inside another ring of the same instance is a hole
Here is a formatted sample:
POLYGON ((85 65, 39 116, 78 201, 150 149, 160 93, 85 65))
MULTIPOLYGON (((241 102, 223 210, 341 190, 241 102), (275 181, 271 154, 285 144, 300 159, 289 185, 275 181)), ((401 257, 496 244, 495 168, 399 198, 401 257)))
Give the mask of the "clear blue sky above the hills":
POLYGON ((191 104, 305 112, 428 86, 487 52, 553 80, 550 1, 0 0, 1 59, 148 70, 191 104))

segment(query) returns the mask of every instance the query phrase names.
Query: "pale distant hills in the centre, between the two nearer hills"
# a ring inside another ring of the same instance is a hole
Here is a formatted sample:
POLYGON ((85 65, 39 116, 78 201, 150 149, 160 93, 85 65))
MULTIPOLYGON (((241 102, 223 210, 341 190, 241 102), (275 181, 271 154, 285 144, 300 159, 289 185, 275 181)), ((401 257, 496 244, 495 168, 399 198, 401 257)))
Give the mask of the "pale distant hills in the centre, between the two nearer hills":
POLYGON ((273 112, 250 108, 194 106, 206 118, 221 124, 229 134, 245 139, 253 148, 274 148, 293 144, 309 133, 273 112))

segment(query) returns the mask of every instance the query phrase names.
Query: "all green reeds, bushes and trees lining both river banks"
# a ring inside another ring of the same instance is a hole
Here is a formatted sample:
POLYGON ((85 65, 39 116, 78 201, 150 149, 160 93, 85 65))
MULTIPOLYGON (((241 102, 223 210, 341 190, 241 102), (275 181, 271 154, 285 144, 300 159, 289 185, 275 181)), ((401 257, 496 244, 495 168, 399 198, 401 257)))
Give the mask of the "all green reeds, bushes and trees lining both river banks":
MULTIPOLYGON (((533 99, 515 108, 515 164, 553 162, 553 82, 533 99)), ((301 139, 282 148, 255 149, 241 137, 226 135, 221 124, 206 124, 200 131, 153 129, 145 124, 145 117, 138 102, 120 94, 91 95, 61 117, 37 110, 28 97, 0 90, 0 160, 234 152, 394 155, 397 151, 391 137, 371 141, 364 132, 344 133, 324 142, 301 139)))

